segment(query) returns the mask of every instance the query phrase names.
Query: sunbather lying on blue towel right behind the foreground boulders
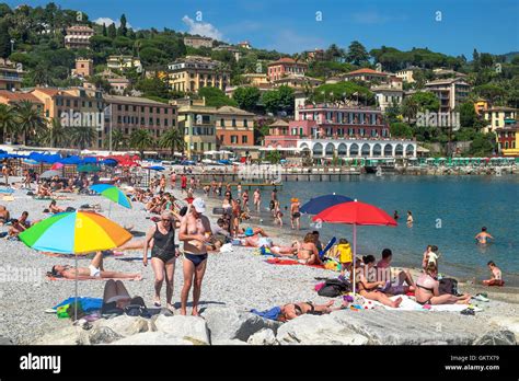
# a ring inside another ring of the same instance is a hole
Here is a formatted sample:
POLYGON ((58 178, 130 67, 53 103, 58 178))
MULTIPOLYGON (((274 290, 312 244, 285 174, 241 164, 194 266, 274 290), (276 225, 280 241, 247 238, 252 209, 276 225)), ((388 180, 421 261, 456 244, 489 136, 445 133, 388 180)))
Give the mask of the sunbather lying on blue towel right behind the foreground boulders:
POLYGON ((251 310, 251 312, 265 319, 270 319, 278 322, 288 322, 289 320, 296 319, 297 316, 301 316, 304 314, 322 315, 331 313, 333 311, 343 310, 346 307, 346 302, 343 302, 343 305, 338 308, 332 308, 333 304, 333 300, 328 301, 325 304, 314 304, 311 301, 307 301, 275 307, 270 310, 263 312, 260 312, 257 310, 251 310))

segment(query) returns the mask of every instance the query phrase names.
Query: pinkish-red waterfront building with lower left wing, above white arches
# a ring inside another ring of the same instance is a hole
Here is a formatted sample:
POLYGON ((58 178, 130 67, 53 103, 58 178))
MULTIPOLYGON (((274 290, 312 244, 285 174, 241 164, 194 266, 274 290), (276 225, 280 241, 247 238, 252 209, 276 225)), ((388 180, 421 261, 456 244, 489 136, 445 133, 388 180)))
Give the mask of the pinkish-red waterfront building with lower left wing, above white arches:
POLYGON ((299 139, 383 139, 389 124, 380 109, 307 105, 299 108, 299 120, 277 120, 265 137, 265 147, 297 147, 299 139))

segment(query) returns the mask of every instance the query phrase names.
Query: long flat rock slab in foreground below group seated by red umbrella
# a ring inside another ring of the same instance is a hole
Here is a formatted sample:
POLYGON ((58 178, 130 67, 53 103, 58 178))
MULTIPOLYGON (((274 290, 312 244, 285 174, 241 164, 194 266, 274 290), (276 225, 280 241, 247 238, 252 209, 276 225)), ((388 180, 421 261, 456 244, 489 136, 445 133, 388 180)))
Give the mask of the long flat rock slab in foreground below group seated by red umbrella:
POLYGON ((471 345, 488 330, 486 321, 455 312, 342 310, 330 316, 374 345, 471 345))

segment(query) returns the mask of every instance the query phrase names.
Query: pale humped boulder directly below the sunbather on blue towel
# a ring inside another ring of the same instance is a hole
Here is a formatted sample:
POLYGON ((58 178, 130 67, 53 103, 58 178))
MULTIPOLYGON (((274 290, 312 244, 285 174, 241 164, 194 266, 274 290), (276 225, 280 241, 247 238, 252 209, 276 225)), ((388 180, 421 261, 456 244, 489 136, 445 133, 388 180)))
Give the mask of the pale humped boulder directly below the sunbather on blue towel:
POLYGON ((330 315, 302 315, 285 323, 277 331, 280 344, 362 345, 368 338, 338 324, 330 315))

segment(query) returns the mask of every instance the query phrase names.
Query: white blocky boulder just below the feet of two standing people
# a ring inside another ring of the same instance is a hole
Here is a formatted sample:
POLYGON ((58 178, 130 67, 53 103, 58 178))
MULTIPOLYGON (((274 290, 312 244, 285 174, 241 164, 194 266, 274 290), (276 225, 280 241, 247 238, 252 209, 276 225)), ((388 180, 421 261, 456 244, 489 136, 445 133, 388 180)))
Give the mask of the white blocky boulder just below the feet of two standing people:
POLYGON ((210 344, 209 331, 204 319, 197 316, 165 316, 154 320, 157 330, 178 338, 191 338, 193 344, 210 344))

